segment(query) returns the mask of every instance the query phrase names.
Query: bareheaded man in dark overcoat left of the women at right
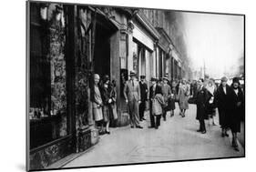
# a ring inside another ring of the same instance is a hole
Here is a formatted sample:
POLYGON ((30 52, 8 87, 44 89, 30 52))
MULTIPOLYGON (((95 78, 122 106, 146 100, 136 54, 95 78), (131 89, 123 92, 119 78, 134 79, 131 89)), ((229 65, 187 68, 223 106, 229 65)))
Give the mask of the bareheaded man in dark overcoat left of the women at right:
POLYGON ((203 79, 200 78, 198 81, 199 90, 197 93, 196 104, 197 104, 197 119, 200 121, 200 129, 197 130, 202 134, 206 133, 204 120, 208 118, 206 113, 206 104, 210 99, 208 90, 203 86, 203 79))

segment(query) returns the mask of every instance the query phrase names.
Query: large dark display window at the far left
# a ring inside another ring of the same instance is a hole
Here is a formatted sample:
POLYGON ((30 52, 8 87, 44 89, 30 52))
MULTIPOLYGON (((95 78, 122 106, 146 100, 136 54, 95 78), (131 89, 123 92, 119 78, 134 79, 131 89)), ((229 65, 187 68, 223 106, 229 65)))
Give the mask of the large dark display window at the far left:
MULTIPOLYGON (((67 136, 66 61, 64 28, 40 20, 40 5, 31 4, 29 56, 30 149, 67 136)), ((55 9, 49 6, 49 9, 55 9)))

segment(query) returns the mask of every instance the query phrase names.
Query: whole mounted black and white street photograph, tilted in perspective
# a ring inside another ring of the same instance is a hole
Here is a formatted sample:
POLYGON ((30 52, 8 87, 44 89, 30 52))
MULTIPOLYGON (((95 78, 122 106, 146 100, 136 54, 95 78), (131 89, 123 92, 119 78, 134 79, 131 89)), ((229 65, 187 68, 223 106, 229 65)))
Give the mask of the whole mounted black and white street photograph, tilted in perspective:
POLYGON ((244 14, 72 3, 26 1, 26 170, 245 157, 244 14))

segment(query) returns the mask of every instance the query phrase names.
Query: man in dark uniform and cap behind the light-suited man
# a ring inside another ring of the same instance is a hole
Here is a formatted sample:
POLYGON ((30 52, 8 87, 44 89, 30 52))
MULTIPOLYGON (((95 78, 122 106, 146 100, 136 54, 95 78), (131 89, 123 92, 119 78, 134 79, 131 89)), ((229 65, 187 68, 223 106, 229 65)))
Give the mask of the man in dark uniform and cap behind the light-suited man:
POLYGON ((140 101, 141 103, 139 104, 139 121, 146 120, 144 118, 144 111, 146 107, 146 101, 148 99, 148 86, 145 81, 146 76, 140 76, 140 81, 139 81, 139 88, 140 88, 140 101))

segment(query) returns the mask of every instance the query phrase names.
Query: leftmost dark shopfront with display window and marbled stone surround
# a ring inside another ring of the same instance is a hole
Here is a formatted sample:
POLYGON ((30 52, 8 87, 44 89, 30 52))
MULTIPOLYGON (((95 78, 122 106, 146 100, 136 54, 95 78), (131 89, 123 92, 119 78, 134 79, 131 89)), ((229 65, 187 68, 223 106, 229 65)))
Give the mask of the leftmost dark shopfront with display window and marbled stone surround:
POLYGON ((76 151, 75 118, 64 6, 30 3, 29 9, 29 167, 37 169, 76 151))

